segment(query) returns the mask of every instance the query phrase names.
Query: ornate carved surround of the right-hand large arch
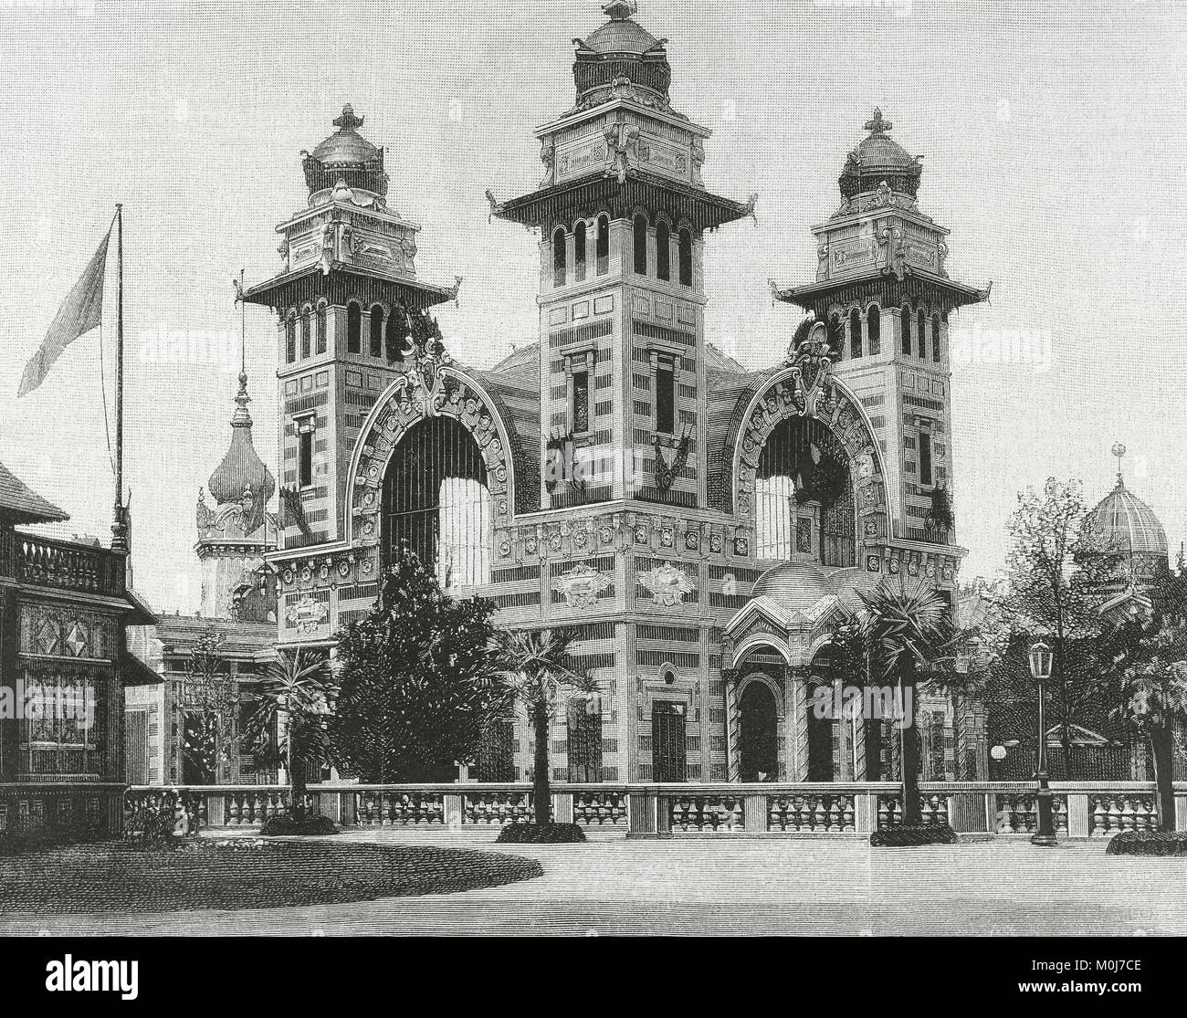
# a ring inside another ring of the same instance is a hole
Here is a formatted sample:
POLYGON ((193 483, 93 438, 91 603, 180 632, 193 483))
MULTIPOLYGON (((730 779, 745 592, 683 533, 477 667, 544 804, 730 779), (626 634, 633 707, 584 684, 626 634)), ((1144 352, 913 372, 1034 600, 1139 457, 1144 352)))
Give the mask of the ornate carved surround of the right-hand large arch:
POLYGON ((888 534, 886 471, 870 420, 861 401, 832 375, 827 326, 815 322, 793 342, 787 360, 753 389, 735 446, 734 511, 740 527, 755 523, 758 460, 772 432, 799 416, 824 424, 844 448, 857 496, 861 537, 888 534))

